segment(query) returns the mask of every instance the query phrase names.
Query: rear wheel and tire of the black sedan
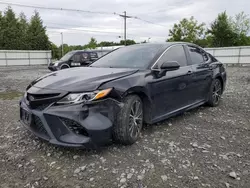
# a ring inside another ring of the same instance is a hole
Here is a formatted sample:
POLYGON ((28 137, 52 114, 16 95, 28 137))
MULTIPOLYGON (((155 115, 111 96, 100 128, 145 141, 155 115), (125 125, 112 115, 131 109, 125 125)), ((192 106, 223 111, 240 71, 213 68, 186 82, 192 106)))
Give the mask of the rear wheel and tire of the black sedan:
POLYGON ((208 94, 208 101, 207 104, 211 107, 218 106, 220 103, 222 95, 222 83, 219 79, 214 79, 212 81, 210 91, 208 94))

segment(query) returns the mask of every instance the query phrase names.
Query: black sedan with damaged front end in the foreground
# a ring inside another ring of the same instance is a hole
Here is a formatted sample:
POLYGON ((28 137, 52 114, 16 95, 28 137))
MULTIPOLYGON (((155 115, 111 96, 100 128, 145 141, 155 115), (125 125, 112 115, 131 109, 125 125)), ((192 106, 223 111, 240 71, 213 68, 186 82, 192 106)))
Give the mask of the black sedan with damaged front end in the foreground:
POLYGON ((20 118, 53 144, 88 147, 113 139, 127 145, 139 139, 143 123, 217 106, 225 85, 223 64, 197 45, 132 45, 90 67, 34 80, 20 101, 20 118))

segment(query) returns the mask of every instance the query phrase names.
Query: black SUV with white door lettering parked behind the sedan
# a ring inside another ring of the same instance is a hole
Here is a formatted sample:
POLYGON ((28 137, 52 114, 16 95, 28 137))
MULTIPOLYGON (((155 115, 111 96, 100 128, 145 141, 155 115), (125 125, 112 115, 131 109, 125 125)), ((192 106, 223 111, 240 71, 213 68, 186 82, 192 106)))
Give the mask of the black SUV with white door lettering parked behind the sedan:
POLYGON ((109 50, 77 50, 65 54, 59 61, 49 64, 48 69, 57 71, 71 67, 85 67, 108 53, 109 50))

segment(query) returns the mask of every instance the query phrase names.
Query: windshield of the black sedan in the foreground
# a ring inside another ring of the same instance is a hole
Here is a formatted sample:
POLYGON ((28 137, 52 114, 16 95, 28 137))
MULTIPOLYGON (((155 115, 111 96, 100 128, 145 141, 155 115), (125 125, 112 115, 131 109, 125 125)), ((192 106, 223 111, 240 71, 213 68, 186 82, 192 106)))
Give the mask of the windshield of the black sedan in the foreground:
POLYGON ((159 44, 123 47, 103 56, 91 67, 146 68, 161 48, 159 44))

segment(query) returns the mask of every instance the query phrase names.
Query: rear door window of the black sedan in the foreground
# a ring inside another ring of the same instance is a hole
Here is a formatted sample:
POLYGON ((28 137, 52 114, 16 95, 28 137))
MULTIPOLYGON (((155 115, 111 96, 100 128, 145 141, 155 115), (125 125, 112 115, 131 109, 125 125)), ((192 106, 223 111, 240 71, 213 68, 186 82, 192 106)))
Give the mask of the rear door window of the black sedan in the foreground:
POLYGON ((188 46, 188 51, 193 65, 201 64, 208 60, 207 54, 197 47, 188 46))

